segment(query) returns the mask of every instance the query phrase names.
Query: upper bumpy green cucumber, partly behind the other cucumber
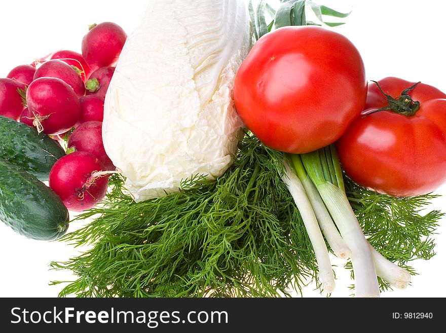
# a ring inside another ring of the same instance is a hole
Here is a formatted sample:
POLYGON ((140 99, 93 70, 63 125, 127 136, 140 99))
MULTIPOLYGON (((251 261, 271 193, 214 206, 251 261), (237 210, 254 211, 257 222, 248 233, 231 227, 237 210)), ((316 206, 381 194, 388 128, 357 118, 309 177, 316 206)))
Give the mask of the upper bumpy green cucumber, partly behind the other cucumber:
POLYGON ((48 135, 0 116, 0 158, 45 181, 53 164, 64 155, 60 144, 48 135))

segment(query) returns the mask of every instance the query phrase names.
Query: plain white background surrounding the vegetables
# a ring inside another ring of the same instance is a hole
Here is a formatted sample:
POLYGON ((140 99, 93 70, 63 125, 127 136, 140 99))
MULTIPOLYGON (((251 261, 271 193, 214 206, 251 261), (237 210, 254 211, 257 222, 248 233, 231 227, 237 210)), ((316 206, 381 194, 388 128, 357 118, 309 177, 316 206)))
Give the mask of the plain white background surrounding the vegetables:
MULTIPOLYGON (((444 57, 443 1, 321 1, 352 15, 346 25, 334 28, 345 34, 359 49, 366 66, 367 78, 379 80, 396 76, 421 81, 446 92, 444 57), (425 5, 426 4, 426 5, 425 5)), ((0 11, 0 77, 19 64, 31 63, 59 49, 80 52, 83 35, 91 23, 113 21, 128 33, 137 23, 141 2, 86 1, 61 2, 41 0, 37 3, 8 1, 0 11)), ((0 142, 1 144, 1 142, 0 142)), ((434 153, 434 152, 433 152, 434 153)), ((446 195, 446 187, 438 193, 446 195)), ((436 200, 430 209, 446 211, 446 196, 436 200)), ((435 236, 437 255, 427 262, 415 261, 419 275, 413 277, 406 290, 387 291, 383 297, 445 297, 446 219, 442 219, 435 236)), ((70 226, 78 229, 77 222, 70 226)), ((70 280, 70 272, 49 270, 51 261, 64 261, 77 249, 61 242, 28 240, 0 224, 0 297, 56 297, 60 286, 51 280, 70 280)), ((333 259, 337 273, 337 289, 332 297, 351 294, 349 274, 343 263, 333 259)), ((310 285, 304 297, 321 297, 310 285)), ((296 296, 299 296, 296 294, 296 296)))

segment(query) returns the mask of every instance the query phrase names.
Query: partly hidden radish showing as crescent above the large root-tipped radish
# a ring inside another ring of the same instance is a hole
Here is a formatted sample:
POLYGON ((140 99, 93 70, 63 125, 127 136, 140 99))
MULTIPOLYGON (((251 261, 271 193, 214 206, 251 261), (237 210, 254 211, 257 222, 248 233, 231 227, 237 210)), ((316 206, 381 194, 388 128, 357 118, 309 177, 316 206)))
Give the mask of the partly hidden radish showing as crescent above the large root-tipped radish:
POLYGON ((68 84, 79 97, 85 95, 85 85, 79 73, 61 60, 44 62, 34 74, 34 80, 39 78, 57 78, 68 84))

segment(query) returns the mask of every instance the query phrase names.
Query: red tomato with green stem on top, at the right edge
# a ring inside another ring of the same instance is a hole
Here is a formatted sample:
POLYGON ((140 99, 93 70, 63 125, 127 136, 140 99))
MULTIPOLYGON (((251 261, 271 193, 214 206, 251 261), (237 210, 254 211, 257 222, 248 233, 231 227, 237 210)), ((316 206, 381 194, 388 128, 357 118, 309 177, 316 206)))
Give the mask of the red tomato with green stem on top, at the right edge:
POLYGON ((413 110, 377 112, 389 102, 370 83, 363 117, 337 142, 345 172, 363 187, 397 197, 434 191, 446 180, 446 94, 422 83, 407 91, 415 83, 398 78, 378 84, 413 110))

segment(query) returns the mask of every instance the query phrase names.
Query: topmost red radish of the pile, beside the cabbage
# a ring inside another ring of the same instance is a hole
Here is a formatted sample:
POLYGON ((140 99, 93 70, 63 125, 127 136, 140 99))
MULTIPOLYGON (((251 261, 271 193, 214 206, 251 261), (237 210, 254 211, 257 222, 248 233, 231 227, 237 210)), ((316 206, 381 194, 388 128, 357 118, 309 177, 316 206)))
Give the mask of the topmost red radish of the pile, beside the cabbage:
POLYGON ((126 40, 127 34, 118 24, 93 24, 82 40, 82 55, 93 70, 114 66, 126 40))

